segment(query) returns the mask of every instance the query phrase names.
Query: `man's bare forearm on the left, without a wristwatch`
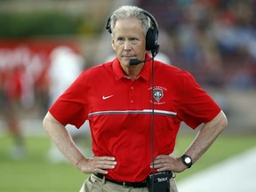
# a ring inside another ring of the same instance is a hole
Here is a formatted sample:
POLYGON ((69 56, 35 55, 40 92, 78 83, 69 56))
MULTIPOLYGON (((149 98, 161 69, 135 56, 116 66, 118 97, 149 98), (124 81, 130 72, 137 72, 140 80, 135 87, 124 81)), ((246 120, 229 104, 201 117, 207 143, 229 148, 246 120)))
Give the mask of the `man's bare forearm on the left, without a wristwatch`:
POLYGON ((76 165, 84 158, 83 154, 76 148, 65 126, 60 124, 49 112, 44 117, 43 127, 60 152, 72 164, 76 165))

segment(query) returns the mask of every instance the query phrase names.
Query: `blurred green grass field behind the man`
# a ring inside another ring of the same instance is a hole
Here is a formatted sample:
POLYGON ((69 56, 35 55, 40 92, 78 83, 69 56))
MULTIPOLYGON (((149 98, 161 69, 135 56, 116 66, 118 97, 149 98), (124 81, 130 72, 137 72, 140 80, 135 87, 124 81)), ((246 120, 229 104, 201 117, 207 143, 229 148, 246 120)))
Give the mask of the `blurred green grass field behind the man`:
MULTIPOLYGON (((188 147, 191 135, 180 135, 177 154, 188 147)), ((186 172, 177 174, 177 181, 204 170, 212 164, 256 146, 255 135, 222 135, 211 149, 186 172)), ((88 175, 76 170, 71 164, 51 164, 47 160, 50 141, 46 137, 28 137, 28 156, 20 161, 8 157, 12 140, 0 137, 0 191, 3 192, 74 192, 79 191, 88 175)))

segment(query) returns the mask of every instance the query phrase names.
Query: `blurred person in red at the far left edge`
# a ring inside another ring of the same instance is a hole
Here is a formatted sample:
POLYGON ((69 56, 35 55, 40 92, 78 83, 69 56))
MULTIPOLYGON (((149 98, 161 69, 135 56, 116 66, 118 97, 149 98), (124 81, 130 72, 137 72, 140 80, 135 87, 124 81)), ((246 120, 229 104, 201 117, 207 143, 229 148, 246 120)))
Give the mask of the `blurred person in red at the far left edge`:
POLYGON ((9 152, 13 159, 22 159, 26 155, 24 138, 20 127, 21 98, 26 90, 24 86, 26 85, 24 82, 26 78, 23 78, 24 68, 20 65, 9 66, 1 71, 0 108, 7 129, 14 140, 9 152))

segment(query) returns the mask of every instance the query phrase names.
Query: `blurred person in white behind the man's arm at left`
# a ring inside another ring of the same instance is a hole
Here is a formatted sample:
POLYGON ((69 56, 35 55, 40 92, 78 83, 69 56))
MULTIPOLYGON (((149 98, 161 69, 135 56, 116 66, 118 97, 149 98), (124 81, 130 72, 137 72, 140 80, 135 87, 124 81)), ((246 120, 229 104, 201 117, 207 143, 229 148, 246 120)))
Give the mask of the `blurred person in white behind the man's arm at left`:
MULTIPOLYGON (((61 93, 63 93, 70 84, 75 81, 76 77, 79 76, 84 69, 84 58, 73 51, 68 46, 58 46, 52 50, 50 54, 50 69, 49 69, 49 96, 50 103, 52 106, 53 102, 58 99, 61 93)), ((77 147, 85 145, 81 143, 84 140, 87 132, 89 131, 89 125, 86 122, 84 124, 84 134, 78 131, 75 126, 68 124, 66 126, 68 132, 71 134, 77 147), (87 132, 86 132, 87 131, 87 132)), ((89 137, 88 137, 89 138, 89 137)), ((84 153, 89 153, 85 151, 84 153)), ((52 145, 49 151, 49 157, 52 163, 60 163, 66 161, 66 158, 62 156, 60 151, 52 145)))

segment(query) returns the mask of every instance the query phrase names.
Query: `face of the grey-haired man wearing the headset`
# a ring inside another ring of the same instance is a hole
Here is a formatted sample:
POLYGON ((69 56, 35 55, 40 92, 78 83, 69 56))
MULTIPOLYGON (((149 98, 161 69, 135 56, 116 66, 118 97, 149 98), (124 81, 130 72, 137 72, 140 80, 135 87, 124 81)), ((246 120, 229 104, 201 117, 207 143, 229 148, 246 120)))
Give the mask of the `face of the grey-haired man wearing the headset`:
POLYGON ((112 47, 123 68, 128 67, 132 59, 145 60, 146 38, 141 21, 136 18, 117 20, 112 47))

